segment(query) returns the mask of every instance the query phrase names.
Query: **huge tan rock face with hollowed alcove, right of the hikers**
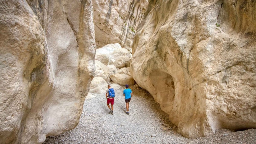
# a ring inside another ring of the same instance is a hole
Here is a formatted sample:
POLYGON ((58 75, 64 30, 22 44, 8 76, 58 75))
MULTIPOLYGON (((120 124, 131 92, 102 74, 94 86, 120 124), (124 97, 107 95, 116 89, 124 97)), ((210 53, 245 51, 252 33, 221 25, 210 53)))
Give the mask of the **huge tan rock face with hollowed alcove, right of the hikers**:
POLYGON ((256 1, 151 1, 131 74, 185 137, 256 128, 256 1))

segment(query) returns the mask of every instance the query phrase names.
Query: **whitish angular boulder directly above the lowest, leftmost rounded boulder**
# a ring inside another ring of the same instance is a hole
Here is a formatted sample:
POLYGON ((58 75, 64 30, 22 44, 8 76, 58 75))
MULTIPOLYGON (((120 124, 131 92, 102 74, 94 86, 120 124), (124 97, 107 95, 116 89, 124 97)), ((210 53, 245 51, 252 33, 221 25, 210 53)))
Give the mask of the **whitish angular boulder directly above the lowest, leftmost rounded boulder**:
POLYGON ((112 70, 106 66, 105 64, 101 63, 98 60, 95 60, 95 74, 94 76, 100 76, 102 77, 106 82, 110 82, 109 76, 113 74, 112 70))

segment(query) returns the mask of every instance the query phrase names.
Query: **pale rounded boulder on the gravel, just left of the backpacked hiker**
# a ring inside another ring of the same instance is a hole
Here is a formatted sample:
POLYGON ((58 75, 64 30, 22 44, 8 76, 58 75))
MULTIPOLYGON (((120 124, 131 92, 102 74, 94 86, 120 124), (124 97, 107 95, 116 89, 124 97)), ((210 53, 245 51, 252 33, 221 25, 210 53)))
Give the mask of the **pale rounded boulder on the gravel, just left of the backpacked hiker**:
POLYGON ((91 81, 90 93, 102 94, 108 89, 108 84, 102 77, 94 77, 91 81))

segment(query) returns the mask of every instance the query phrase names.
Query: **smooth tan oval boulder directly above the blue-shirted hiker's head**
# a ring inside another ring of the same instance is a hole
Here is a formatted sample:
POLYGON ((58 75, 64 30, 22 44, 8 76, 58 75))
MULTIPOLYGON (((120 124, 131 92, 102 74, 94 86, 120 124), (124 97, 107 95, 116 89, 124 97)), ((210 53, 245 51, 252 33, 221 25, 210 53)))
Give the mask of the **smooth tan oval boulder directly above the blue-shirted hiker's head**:
POLYGON ((131 76, 123 74, 123 73, 122 74, 120 74, 120 73, 112 74, 112 75, 110 75, 110 78, 114 83, 118 83, 121 85, 125 85, 125 84, 134 85, 135 84, 135 81, 131 76))

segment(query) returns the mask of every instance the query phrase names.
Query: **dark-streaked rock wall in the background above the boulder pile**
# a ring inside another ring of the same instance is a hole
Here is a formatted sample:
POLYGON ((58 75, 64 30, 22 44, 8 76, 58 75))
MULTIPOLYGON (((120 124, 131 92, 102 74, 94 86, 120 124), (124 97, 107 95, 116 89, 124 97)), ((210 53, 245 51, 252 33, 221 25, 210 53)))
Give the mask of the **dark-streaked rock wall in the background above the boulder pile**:
POLYGON ((97 47, 120 43, 122 48, 131 50, 136 28, 147 6, 147 0, 93 0, 97 47))

